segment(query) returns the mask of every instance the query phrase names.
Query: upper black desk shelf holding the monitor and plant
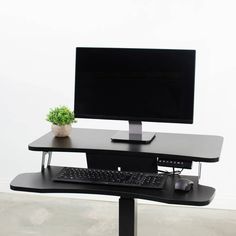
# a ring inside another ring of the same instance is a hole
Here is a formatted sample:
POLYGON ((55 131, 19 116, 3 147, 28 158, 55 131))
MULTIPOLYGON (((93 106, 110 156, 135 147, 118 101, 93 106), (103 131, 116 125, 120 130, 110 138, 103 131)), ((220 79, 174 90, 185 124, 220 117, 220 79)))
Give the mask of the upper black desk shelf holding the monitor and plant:
POLYGON ((150 144, 111 142, 116 130, 74 128, 67 138, 55 138, 51 132, 29 145, 32 151, 115 153, 187 159, 201 162, 219 161, 223 137, 213 135, 156 133, 150 144))

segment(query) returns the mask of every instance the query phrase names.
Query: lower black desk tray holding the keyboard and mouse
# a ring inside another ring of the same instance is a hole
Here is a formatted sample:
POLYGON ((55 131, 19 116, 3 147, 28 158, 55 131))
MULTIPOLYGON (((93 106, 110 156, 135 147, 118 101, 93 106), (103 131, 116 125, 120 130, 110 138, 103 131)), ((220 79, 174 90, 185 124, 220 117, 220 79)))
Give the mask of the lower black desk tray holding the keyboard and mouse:
POLYGON ((187 193, 174 190, 174 181, 178 176, 169 176, 163 190, 53 182, 52 177, 61 168, 50 166, 44 172, 20 174, 11 182, 10 187, 12 190, 26 192, 105 194, 196 206, 209 204, 215 194, 214 188, 198 185, 196 176, 185 176, 194 181, 193 189, 187 193))

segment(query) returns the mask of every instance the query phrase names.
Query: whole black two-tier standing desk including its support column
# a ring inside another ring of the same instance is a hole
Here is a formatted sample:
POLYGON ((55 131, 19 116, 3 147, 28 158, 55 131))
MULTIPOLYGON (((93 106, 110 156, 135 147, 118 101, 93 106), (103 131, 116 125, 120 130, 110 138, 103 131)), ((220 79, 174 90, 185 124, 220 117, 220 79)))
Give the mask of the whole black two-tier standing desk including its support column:
POLYGON ((163 190, 92 184, 53 182, 63 167, 52 166, 52 152, 86 153, 88 168, 156 172, 157 158, 194 162, 219 161, 223 137, 212 135, 156 133, 150 144, 111 142, 115 130, 73 129, 70 137, 55 138, 47 133, 29 145, 31 151, 42 152, 41 171, 20 174, 10 188, 39 193, 89 193, 120 196, 119 236, 134 236, 136 230, 135 199, 168 204, 204 206, 214 198, 215 189, 199 184, 199 176, 185 176, 194 182, 190 192, 174 190, 178 175, 169 175, 163 190), (46 164, 46 157, 48 161, 46 164))

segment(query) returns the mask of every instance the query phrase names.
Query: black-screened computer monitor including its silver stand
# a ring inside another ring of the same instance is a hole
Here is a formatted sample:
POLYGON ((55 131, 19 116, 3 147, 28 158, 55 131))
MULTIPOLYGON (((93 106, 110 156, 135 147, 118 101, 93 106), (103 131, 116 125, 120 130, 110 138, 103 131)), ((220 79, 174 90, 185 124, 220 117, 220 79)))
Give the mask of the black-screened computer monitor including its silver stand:
POLYGON ((77 118, 128 120, 113 141, 150 142, 141 121, 193 123, 195 50, 76 48, 77 118))

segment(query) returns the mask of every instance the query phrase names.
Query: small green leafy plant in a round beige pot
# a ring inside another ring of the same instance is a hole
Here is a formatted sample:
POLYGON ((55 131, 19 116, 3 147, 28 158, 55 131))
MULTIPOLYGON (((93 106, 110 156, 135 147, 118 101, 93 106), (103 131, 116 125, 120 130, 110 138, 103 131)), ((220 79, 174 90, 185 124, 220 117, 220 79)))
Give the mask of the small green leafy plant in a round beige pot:
POLYGON ((56 137, 67 137, 71 133, 71 124, 75 123, 74 112, 66 106, 50 109, 47 121, 52 123, 52 132, 56 137))

